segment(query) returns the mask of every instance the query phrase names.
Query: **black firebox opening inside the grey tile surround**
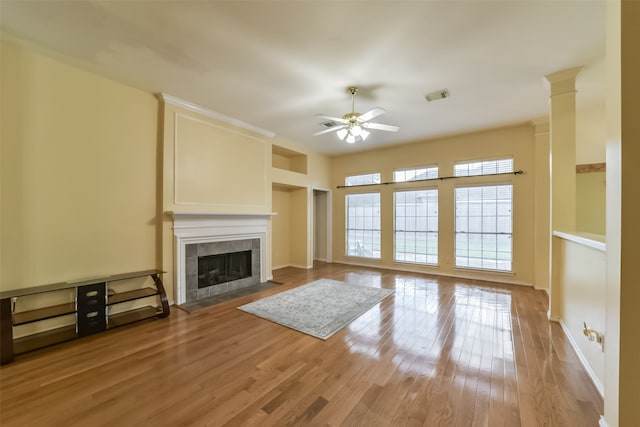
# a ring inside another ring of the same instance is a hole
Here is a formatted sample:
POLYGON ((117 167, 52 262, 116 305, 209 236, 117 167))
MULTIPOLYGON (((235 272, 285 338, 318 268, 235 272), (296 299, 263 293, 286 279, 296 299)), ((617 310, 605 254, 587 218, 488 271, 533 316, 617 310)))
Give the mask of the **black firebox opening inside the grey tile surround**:
POLYGON ((251 277, 251 251, 198 257, 198 289, 251 277))

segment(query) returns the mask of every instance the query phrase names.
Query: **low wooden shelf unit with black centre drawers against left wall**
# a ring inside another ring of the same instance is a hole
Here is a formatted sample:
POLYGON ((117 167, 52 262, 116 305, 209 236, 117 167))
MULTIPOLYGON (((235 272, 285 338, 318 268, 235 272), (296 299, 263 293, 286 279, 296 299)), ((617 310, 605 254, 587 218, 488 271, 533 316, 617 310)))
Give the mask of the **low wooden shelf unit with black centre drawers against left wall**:
POLYGON ((42 347, 103 332, 139 320, 168 316, 169 302, 160 278, 162 273, 164 273, 162 270, 144 270, 0 292, 0 364, 10 363, 16 355, 42 347), (151 277, 155 287, 144 285, 142 288, 127 289, 115 293, 112 293, 109 288, 109 284, 118 281, 144 277, 151 277), (36 309, 14 311, 16 302, 20 298, 63 290, 75 291, 73 302, 55 303, 36 309), (158 307, 149 305, 110 314, 110 311, 117 304, 149 297, 158 298, 158 307), (44 332, 13 338, 13 329, 16 326, 70 315, 75 317, 75 322, 72 325, 59 326, 44 332))

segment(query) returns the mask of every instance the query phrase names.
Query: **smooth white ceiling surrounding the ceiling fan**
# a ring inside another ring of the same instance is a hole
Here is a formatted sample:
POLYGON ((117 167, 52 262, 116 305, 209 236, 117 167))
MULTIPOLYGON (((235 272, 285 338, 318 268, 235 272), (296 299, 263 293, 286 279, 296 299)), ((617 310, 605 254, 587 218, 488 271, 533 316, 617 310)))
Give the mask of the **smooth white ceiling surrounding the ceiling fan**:
MULTIPOLYGON (((327 154, 546 116, 543 77, 602 62, 604 1, 14 1, 4 36, 327 154), (346 144, 316 114, 382 107, 346 144), (442 88, 451 97, 426 102, 442 88)), ((587 74, 592 75, 593 73, 587 74)), ((583 102, 601 102, 599 76, 583 102)))

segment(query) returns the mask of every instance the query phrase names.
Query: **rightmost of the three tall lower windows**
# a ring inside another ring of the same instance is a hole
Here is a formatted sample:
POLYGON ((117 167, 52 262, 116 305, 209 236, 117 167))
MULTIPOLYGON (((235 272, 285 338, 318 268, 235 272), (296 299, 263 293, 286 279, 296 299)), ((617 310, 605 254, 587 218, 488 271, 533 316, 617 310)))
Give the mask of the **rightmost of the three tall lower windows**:
POLYGON ((511 271, 513 186, 455 189, 456 267, 511 271))

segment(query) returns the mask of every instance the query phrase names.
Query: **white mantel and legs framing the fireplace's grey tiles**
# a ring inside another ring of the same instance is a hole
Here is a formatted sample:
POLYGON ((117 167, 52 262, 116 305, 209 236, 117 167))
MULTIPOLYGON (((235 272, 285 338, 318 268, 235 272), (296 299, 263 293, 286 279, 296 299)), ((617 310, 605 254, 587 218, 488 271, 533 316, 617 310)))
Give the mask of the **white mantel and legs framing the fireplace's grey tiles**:
POLYGON ((267 276, 267 228, 273 213, 171 212, 175 236, 176 303, 187 301, 186 246, 232 240, 260 240, 260 282, 267 276))

